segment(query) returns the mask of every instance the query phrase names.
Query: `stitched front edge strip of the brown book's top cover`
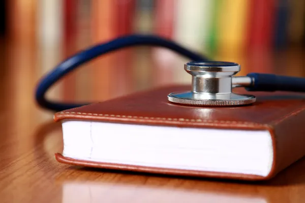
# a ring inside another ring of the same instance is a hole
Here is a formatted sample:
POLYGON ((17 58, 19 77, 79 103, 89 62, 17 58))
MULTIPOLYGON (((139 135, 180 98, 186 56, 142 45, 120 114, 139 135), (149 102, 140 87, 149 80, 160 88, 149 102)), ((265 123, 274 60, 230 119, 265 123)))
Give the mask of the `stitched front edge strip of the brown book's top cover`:
POLYGON ((90 116, 101 116, 101 117, 121 117, 121 118, 135 118, 135 119, 146 119, 146 120, 168 120, 168 121, 184 121, 184 122, 200 122, 200 123, 224 123, 224 124, 246 124, 256 126, 267 126, 266 124, 244 122, 244 121, 219 121, 219 120, 203 120, 203 119, 188 119, 188 118, 160 118, 160 117, 143 117, 143 116, 126 116, 126 115, 114 115, 114 114, 92 114, 92 113, 81 113, 81 112, 59 112, 59 114, 80 114, 90 116))

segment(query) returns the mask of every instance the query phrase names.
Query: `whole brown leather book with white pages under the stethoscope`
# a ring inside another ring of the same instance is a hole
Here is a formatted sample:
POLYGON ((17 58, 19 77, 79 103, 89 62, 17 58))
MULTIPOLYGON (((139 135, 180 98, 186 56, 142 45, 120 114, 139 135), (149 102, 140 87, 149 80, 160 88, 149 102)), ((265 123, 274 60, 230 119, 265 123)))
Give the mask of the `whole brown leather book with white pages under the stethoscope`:
POLYGON ((64 138, 57 161, 257 181, 304 156, 304 94, 252 92, 257 101, 239 107, 191 107, 167 100, 168 93, 189 89, 162 87, 56 113, 64 138))

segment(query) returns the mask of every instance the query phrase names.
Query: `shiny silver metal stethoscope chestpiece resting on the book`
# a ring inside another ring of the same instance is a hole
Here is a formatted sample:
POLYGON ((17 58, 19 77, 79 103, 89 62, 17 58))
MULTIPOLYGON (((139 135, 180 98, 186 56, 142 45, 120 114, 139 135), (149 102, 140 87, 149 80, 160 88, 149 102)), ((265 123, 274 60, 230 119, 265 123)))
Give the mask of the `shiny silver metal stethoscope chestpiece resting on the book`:
POLYGON ((255 102, 253 95, 232 93, 232 76, 240 71, 240 65, 223 61, 192 61, 185 64, 192 75, 192 90, 172 92, 168 100, 190 106, 230 107, 255 102))

